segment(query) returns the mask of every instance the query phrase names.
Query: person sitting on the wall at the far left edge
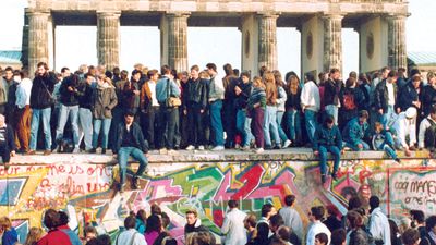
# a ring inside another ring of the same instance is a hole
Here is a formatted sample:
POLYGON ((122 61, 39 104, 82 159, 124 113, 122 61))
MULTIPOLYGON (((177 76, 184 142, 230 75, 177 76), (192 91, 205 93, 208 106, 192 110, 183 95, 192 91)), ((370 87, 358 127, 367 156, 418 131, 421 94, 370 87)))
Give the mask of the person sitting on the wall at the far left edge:
POLYGON ((4 115, 0 114, 0 156, 4 168, 9 168, 11 157, 15 156, 15 142, 12 127, 4 123, 4 115))

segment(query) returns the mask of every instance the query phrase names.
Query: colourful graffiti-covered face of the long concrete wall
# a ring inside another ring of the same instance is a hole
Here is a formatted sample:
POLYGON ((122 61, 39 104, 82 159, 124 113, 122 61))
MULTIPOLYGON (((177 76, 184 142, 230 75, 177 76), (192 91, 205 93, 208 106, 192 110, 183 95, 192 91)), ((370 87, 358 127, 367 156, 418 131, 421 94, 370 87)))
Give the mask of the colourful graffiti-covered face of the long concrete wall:
POLYGON ((69 212, 70 225, 77 232, 92 223, 114 235, 130 211, 149 210, 156 203, 171 218, 171 234, 182 241, 184 212, 190 208, 196 208, 203 224, 219 235, 229 199, 240 200, 241 210, 259 215, 265 203, 279 208, 286 195, 294 194, 307 223, 311 206, 334 204, 344 213, 352 195, 364 199, 378 195, 389 204, 387 210, 397 213, 416 207, 420 197, 425 200, 419 207, 431 210, 436 193, 435 170, 422 172, 423 161, 413 159, 400 168, 390 160, 342 161, 339 180, 324 186, 314 161, 152 163, 141 188, 122 195, 111 188, 118 167, 87 163, 86 158, 77 162, 0 167, 0 213, 28 229, 41 225, 45 209, 58 208, 69 212))

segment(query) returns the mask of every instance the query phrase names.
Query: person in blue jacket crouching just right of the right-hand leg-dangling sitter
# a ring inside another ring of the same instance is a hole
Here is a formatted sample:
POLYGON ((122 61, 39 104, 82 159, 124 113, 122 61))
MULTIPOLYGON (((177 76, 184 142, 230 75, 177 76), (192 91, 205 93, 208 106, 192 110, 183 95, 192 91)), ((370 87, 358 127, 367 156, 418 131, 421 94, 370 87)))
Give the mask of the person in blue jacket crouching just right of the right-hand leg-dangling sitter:
POLYGON ((370 126, 366 122, 368 117, 367 111, 361 110, 359 111, 358 118, 354 118, 347 123, 342 132, 346 148, 352 150, 370 149, 370 145, 364 142, 364 138, 366 138, 370 133, 370 126))

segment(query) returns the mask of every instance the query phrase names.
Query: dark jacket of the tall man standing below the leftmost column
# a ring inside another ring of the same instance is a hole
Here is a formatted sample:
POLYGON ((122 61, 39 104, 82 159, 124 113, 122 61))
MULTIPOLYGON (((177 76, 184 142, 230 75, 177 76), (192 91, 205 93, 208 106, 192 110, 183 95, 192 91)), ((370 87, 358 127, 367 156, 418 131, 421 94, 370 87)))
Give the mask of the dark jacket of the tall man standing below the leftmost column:
POLYGON ((37 75, 34 78, 31 90, 31 108, 46 109, 52 105, 52 94, 57 83, 56 74, 46 73, 43 76, 37 75))

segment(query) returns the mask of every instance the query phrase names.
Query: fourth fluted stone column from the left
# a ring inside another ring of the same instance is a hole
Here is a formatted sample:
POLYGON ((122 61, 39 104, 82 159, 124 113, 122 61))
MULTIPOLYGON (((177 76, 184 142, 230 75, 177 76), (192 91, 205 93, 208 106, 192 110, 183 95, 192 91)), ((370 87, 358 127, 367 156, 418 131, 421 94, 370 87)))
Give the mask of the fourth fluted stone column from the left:
POLYGON ((258 68, 277 69, 277 14, 264 13, 258 16, 258 68))

